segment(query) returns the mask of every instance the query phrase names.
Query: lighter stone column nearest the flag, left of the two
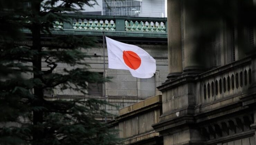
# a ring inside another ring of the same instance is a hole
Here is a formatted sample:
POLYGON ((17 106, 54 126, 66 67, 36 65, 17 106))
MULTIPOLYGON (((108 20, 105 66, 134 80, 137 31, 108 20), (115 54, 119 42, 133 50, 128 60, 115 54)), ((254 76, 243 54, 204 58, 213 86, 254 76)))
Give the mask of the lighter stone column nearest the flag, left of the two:
POLYGON ((182 74, 181 5, 180 0, 167 1, 168 70, 174 80, 182 74))

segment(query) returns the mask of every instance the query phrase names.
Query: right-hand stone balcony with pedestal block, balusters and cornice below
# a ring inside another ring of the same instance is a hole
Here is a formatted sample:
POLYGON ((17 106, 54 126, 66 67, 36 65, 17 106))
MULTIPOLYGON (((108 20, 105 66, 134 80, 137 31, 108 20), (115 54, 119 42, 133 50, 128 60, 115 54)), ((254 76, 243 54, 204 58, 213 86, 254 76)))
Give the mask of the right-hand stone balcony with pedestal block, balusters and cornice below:
POLYGON ((193 132, 189 139, 195 144, 253 136, 255 64, 252 55, 199 75, 166 81, 158 87, 163 114, 152 127, 160 135, 174 135, 177 129, 183 137, 193 132))

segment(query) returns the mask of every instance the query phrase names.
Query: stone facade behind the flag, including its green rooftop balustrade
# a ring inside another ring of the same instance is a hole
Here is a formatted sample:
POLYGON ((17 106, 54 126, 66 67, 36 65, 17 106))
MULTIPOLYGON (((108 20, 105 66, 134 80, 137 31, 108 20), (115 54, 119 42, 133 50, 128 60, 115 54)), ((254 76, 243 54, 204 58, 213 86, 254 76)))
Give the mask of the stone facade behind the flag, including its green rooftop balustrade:
MULTIPOLYGON (((98 43, 93 48, 84 49, 90 58, 80 62, 81 65, 67 66, 58 63, 54 70, 56 73, 65 73, 63 69, 72 69, 74 67, 83 68, 84 64, 90 65, 90 71, 99 72, 106 77, 111 77, 110 82, 105 84, 89 83, 88 90, 84 90, 86 95, 74 90, 61 90, 58 87, 51 91, 45 91, 45 98, 55 99, 104 99, 123 108, 138 101, 160 94, 156 88, 161 85, 168 75, 167 64, 167 33, 165 29, 166 18, 144 18, 144 17, 123 17, 123 16, 95 16, 95 15, 75 15, 69 14, 70 23, 55 22, 53 35, 73 34, 76 36, 94 36, 98 43), (72 23, 72 22, 71 22, 72 23), (137 45, 144 49, 156 59, 156 73, 152 78, 140 79, 132 77, 128 70, 108 69, 107 45, 103 49, 103 33, 114 40, 137 45), (105 71, 104 55, 105 54, 105 71)), ((30 33, 24 30, 25 33, 30 33)), ((47 40, 45 41, 47 43, 47 40)), ((47 70, 47 64, 42 61, 42 70, 47 70)), ((107 111, 113 115, 118 115, 118 108, 107 106, 107 111)), ((104 120, 104 117, 99 117, 104 120)), ((108 116, 108 120, 113 116, 108 116)))

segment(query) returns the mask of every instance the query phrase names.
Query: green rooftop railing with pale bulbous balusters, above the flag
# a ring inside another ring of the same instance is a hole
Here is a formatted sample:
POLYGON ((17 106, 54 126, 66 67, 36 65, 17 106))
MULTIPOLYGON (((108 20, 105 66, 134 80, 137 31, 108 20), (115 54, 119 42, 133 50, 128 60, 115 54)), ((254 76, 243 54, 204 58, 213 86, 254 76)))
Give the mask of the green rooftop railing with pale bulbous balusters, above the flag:
POLYGON ((89 31, 139 31, 166 32, 166 18, 96 16, 67 14, 69 22, 54 22, 56 29, 73 29, 89 31))

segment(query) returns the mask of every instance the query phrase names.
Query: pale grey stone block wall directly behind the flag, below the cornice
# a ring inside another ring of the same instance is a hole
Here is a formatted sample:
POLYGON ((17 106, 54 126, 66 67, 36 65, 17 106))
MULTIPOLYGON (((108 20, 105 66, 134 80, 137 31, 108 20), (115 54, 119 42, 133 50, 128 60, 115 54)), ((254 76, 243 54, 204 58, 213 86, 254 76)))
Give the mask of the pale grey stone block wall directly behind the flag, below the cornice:
MULTIPOLYGON (((107 82, 106 85, 106 96, 107 100, 114 105, 119 106, 119 108, 126 107, 133 103, 136 103, 140 100, 143 100, 148 97, 152 97, 160 94, 161 92, 156 89, 157 86, 161 85, 168 75, 168 64, 167 64, 167 45, 166 44, 141 44, 137 45, 143 48, 149 53, 154 59, 156 59, 156 74, 152 78, 140 79, 131 76, 128 70, 119 70, 119 69, 108 69, 108 54, 107 47, 105 49, 105 62, 106 62, 106 76, 112 77, 110 82, 107 82)), ((104 72, 103 65, 103 45, 99 43, 93 48, 83 49, 83 52, 86 52, 90 58, 86 58, 82 63, 89 64, 88 68, 90 71, 94 72, 104 72)), ((46 63, 42 62, 43 70, 47 70, 46 63)), ((57 68, 54 70, 54 73, 64 74, 63 69, 73 69, 74 67, 85 68, 85 65, 77 66, 68 66, 63 63, 58 63, 57 68)), ((81 88, 83 89, 83 88, 81 88)), ((60 87, 55 87, 53 89, 54 97, 86 97, 86 98, 98 98, 103 99, 103 96, 89 96, 84 95, 79 91, 74 91, 70 89, 61 90, 60 87)), ((83 89, 87 92, 87 90, 83 89)), ((104 86, 103 86, 104 94, 104 86)), ((115 107, 107 106, 107 110, 110 113, 118 114, 118 110, 115 107)))

